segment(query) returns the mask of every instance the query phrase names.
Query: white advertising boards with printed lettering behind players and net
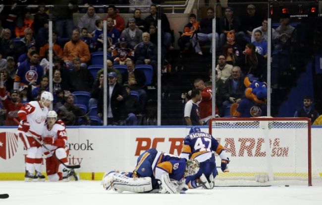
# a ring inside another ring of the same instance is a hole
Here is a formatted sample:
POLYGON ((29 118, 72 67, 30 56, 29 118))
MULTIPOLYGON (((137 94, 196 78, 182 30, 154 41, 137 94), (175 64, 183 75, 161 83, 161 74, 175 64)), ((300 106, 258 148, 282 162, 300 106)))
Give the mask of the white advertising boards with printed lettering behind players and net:
MULTIPOLYGON (((202 131, 208 132, 208 128, 205 127, 202 131)), ((0 129, 0 173, 22 173, 25 170, 26 150, 21 140, 10 134, 14 132, 15 129, 0 129)), ((180 154, 183 137, 188 132, 189 129, 185 127, 67 128, 67 146, 70 149, 68 162, 81 164, 80 173, 131 171, 138 155, 146 149, 155 147, 167 153, 180 154)), ((243 137, 234 137, 234 133, 217 137, 226 147, 231 160, 230 169, 249 171, 251 164, 264 164, 267 154, 270 154, 272 164, 279 166, 280 171, 286 171, 294 163, 303 163, 300 169, 307 169, 306 139, 294 139, 287 132, 284 135, 272 134, 267 153, 263 136, 244 132, 238 134, 243 137)), ((312 129, 312 164, 320 167, 320 170, 321 160, 317 159, 322 158, 322 152, 319 151, 321 136, 322 129, 312 129)), ((253 169, 255 171, 257 167, 253 169)))

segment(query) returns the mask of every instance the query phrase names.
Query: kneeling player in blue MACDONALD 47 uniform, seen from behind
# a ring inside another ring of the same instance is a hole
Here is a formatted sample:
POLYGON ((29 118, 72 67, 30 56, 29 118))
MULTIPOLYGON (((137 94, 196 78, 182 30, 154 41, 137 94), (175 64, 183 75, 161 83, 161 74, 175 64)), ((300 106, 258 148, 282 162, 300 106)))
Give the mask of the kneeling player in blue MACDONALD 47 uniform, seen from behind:
POLYGON ((185 183, 194 189, 203 186, 206 189, 214 188, 214 180, 217 175, 215 154, 221 159, 221 170, 229 172, 227 164, 229 158, 225 148, 210 134, 201 132, 199 127, 192 127, 189 135, 184 138, 180 158, 196 159, 200 163, 200 169, 196 175, 188 176, 185 183))

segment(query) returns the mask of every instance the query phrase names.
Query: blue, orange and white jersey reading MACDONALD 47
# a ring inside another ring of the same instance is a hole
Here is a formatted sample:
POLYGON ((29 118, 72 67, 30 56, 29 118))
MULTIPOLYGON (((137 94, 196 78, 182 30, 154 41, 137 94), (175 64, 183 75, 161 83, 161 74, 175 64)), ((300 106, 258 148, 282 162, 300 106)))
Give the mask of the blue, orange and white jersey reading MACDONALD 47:
POLYGON ((225 148, 210 134, 197 132, 184 138, 180 158, 197 159, 199 162, 206 161, 216 152, 221 159, 227 158, 225 148))

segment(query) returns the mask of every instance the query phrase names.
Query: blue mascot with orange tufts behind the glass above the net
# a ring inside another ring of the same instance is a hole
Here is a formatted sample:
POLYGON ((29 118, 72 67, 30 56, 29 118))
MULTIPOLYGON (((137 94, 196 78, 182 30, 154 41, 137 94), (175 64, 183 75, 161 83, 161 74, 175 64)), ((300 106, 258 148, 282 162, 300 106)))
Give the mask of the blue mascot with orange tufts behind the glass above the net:
POLYGON ((267 84, 254 80, 252 83, 245 77, 246 86, 245 97, 238 103, 233 103, 230 107, 231 117, 261 117, 267 116, 267 84))

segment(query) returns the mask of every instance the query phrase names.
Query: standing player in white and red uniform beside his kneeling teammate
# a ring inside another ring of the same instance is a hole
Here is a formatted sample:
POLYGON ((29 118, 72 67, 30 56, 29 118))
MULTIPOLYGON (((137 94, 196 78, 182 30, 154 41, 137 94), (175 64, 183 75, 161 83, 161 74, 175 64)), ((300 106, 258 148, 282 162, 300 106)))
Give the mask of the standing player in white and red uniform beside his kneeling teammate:
POLYGON ((44 91, 39 101, 31 101, 18 111, 21 121, 17 135, 27 149, 25 181, 37 181, 38 178, 45 181, 45 176, 41 173, 42 147, 33 136, 41 140, 49 106, 53 100, 52 93, 44 91))

